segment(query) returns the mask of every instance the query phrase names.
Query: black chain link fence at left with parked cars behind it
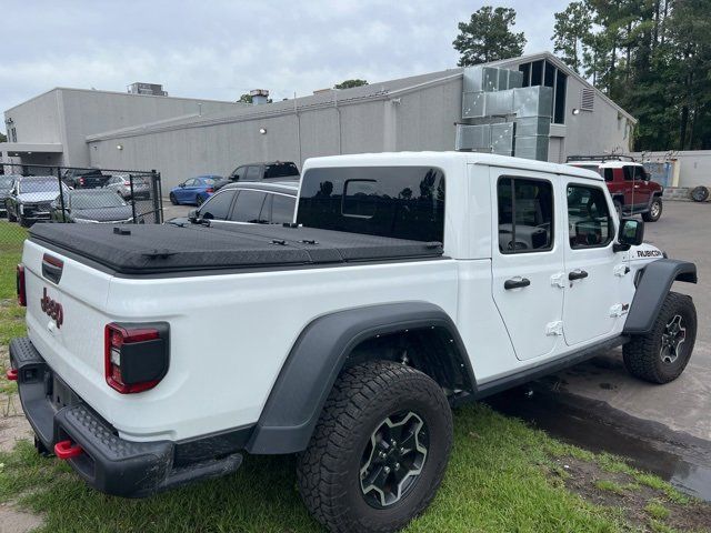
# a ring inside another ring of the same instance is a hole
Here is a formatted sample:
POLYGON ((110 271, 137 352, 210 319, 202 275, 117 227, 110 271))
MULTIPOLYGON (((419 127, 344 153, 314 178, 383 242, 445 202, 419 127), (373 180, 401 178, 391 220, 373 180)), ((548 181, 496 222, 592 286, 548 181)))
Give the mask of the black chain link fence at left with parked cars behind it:
POLYGON ((0 240, 36 223, 160 224, 161 199, 154 170, 0 163, 0 240))

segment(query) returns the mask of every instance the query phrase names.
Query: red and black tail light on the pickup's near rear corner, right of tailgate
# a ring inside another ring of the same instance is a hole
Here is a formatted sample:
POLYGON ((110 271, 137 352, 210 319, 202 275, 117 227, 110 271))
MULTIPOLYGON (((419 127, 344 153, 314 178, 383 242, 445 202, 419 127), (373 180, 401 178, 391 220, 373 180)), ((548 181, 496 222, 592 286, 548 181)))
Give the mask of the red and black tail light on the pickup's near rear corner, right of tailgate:
POLYGON ((104 330, 106 378, 111 389, 133 394, 154 388, 168 372, 168 324, 117 324, 104 330))

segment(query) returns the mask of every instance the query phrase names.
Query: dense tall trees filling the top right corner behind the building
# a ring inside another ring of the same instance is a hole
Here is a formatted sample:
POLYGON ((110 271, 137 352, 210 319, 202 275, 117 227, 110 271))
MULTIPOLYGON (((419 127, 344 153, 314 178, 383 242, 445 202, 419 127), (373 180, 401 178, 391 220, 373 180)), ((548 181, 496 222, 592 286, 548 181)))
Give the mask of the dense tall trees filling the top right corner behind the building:
POLYGON ((711 149, 709 0, 581 0, 555 52, 640 120, 637 150, 711 149))

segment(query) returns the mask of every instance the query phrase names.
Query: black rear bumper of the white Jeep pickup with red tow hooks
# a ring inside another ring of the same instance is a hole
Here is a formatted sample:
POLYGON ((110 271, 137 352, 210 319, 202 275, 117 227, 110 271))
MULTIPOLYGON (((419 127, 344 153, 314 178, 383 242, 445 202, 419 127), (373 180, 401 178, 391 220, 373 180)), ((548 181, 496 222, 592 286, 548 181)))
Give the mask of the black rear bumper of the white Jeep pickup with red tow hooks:
MULTIPOLYGON (((228 474, 242 462, 241 454, 226 453, 219 446, 212 446, 216 456, 202 453, 190 457, 178 453, 180 444, 171 441, 121 439, 108 422, 53 375, 27 338, 13 339, 10 343, 10 363, 18 371, 20 401, 37 438, 48 450, 67 440, 81 446, 82 453, 67 461, 87 483, 101 492, 127 497, 147 496, 196 480, 228 474)), ((210 449, 209 441, 206 439, 202 446, 200 440, 193 441, 188 449, 210 449)))

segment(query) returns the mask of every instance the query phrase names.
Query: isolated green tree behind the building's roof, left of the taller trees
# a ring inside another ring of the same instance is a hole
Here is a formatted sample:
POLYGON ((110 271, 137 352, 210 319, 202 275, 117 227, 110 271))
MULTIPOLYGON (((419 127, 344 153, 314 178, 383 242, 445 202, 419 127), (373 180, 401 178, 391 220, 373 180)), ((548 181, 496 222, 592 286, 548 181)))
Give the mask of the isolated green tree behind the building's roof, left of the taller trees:
POLYGON ((460 67, 515 58, 523 53, 525 37, 514 33, 515 10, 484 6, 472 13, 469 22, 460 22, 459 36, 452 42, 461 54, 460 67))

